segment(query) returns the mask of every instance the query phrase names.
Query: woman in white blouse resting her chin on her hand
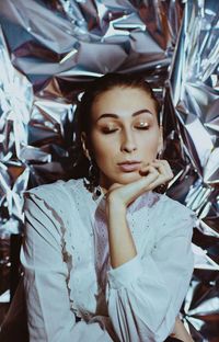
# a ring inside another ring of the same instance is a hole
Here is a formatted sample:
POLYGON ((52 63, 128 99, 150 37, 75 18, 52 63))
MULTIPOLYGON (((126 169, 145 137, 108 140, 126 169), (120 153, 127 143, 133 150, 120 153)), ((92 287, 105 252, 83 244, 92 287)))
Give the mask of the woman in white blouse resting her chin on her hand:
POLYGON ((192 341, 177 315, 195 215, 154 191, 173 176, 157 99, 142 80, 106 75, 78 119, 78 179, 25 194, 30 341, 192 341))

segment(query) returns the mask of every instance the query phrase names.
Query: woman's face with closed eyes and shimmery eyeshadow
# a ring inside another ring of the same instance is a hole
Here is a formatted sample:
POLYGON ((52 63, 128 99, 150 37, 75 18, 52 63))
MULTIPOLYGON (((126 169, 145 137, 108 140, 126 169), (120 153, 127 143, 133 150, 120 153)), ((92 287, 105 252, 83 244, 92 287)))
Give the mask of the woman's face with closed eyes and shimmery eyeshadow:
POLYGON ((115 87, 92 106, 90 152, 100 168, 100 185, 127 184, 162 148, 154 102, 143 90, 115 87))

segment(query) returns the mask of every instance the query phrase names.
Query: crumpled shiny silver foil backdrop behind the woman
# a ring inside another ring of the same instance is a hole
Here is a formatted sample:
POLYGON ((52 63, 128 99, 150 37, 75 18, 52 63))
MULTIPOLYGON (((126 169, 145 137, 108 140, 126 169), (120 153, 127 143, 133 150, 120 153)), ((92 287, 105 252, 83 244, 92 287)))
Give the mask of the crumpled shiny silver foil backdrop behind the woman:
POLYGON ((163 158, 175 175, 166 193, 198 217, 182 317, 195 341, 218 341, 219 1, 7 0, 0 25, 1 297, 23 191, 70 176, 84 86, 143 73, 163 102, 163 158))

